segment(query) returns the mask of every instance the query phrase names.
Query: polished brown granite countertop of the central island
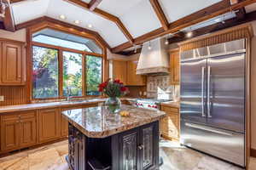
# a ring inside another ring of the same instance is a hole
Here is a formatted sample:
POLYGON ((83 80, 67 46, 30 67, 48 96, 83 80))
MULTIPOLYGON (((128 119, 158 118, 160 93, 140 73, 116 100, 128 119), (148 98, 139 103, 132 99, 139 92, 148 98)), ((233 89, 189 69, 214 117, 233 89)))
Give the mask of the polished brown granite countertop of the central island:
POLYGON ((129 111, 130 116, 124 117, 116 114, 114 117, 108 114, 108 109, 105 106, 73 109, 62 111, 61 114, 89 138, 106 138, 116 133, 158 121, 166 115, 164 111, 152 111, 131 105, 122 105, 121 111, 129 111))

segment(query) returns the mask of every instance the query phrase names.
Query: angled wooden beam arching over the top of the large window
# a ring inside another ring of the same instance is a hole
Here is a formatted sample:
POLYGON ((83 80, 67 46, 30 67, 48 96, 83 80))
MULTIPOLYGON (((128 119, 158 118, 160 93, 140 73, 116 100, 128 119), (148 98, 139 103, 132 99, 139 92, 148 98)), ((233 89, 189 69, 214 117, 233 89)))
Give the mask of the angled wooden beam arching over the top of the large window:
POLYGON ((24 23, 20 23, 18 25, 16 25, 16 30, 20 30, 20 29, 23 29, 23 28, 27 28, 27 27, 31 27, 31 26, 35 26, 39 23, 42 23, 44 21, 48 21, 50 23, 53 23, 53 24, 56 24, 56 25, 60 25, 60 26, 66 26, 68 28, 71 28, 71 29, 74 29, 74 30, 77 30, 77 31, 81 31, 81 32, 86 32, 90 35, 93 35, 94 37, 96 37, 96 39, 98 39, 100 42, 102 42, 102 44, 107 47, 107 48, 110 48, 110 46, 108 45, 108 42, 106 42, 101 36, 99 33, 97 33, 96 31, 91 31, 89 29, 86 29, 86 28, 83 28, 83 27, 80 27, 80 26, 74 26, 72 24, 68 24, 66 22, 63 22, 61 20, 55 20, 53 18, 50 18, 48 16, 43 16, 43 17, 40 17, 40 18, 37 18, 37 19, 34 19, 34 20, 29 20, 29 21, 26 21, 24 23))

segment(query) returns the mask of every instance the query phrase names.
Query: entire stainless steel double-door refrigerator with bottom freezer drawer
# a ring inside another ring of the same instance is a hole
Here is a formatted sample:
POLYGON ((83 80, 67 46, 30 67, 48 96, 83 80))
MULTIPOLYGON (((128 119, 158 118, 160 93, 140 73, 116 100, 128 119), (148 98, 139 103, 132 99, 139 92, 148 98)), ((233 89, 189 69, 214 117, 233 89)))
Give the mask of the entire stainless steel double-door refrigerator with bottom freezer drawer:
POLYGON ((245 167, 245 40, 181 54, 181 143, 245 167))

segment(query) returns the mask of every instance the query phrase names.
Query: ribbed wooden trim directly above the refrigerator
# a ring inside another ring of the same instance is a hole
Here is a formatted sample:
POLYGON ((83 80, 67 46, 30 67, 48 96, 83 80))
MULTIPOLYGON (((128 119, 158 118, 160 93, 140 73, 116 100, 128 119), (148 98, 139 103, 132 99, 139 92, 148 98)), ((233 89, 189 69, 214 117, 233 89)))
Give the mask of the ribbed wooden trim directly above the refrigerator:
POLYGON ((187 42, 181 42, 181 51, 187 51, 195 48, 202 48, 210 45, 214 45, 222 42, 230 42, 236 39, 252 37, 253 28, 250 24, 232 27, 230 29, 225 29, 224 31, 218 31, 210 35, 205 35, 202 37, 196 37, 187 42))

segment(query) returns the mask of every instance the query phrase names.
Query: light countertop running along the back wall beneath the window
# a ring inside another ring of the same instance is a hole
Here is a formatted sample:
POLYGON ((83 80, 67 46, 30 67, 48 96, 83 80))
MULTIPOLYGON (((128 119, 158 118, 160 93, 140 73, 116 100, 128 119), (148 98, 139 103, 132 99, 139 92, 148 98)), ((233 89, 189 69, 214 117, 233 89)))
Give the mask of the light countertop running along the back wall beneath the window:
MULTIPOLYGON (((126 100, 134 100, 133 98, 121 98, 126 100)), ((90 105, 99 102, 104 102, 106 98, 96 98, 96 99, 77 99, 71 101, 60 101, 60 102, 48 102, 48 103, 33 103, 24 105, 6 105, 0 106, 0 114, 8 113, 13 111, 30 111, 36 109, 48 109, 61 106, 72 106, 72 105, 90 105)))

